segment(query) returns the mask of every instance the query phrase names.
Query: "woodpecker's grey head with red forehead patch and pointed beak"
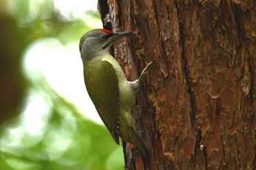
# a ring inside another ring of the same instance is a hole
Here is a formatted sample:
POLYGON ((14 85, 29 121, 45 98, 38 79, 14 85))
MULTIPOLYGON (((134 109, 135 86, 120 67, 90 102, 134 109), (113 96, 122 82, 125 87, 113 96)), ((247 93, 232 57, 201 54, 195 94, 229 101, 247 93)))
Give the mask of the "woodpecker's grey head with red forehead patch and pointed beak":
POLYGON ((86 34, 83 34, 80 39, 79 50, 81 58, 85 61, 109 53, 110 47, 116 40, 131 33, 132 32, 113 33, 106 29, 93 29, 88 31, 86 34))

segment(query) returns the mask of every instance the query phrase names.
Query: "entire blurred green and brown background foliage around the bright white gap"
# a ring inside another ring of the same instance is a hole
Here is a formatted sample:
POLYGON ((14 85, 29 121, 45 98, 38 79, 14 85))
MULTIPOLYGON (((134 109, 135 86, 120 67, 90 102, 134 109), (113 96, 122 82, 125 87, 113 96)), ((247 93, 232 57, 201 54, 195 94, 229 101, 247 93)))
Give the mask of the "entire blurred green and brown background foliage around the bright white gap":
MULTIPOLYGON (((32 1, 0 2, 0 104, 1 108, 10 105, 0 112, 0 169, 123 169, 122 149, 103 125, 82 116, 45 80, 31 81, 22 74, 22 54, 34 40, 54 37, 64 45, 78 43, 80 36, 91 29, 83 20, 61 17, 52 0, 38 1, 34 7, 32 1), (11 77, 13 81, 6 84, 11 77), (31 93, 42 98, 47 107, 42 128, 34 133, 28 130, 31 126, 26 125, 24 114, 12 114, 25 112, 34 101, 29 100, 31 93)), ((97 12, 87 14, 99 20, 97 12)))

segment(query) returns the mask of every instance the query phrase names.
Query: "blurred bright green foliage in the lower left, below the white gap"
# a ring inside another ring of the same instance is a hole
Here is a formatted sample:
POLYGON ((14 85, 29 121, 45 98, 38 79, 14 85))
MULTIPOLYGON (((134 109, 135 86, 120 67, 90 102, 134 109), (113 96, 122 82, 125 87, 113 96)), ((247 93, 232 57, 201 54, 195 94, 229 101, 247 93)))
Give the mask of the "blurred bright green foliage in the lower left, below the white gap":
POLYGON ((0 169, 122 168, 121 147, 105 127, 85 119, 46 82, 33 88, 44 93, 41 97, 50 106, 44 128, 39 134, 29 134, 20 117, 4 123, 0 169))

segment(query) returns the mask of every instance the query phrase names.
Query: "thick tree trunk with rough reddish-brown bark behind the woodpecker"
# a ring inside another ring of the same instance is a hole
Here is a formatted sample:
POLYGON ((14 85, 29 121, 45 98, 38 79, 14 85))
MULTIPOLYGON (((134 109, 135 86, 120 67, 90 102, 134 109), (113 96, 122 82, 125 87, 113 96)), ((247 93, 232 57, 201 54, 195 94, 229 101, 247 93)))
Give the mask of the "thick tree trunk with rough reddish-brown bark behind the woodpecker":
MULTIPOLYGON (((105 28, 135 31, 113 47, 135 80, 132 115, 151 169, 256 169, 256 3, 100 0, 105 28)), ((143 169, 124 146, 127 169, 143 169)))

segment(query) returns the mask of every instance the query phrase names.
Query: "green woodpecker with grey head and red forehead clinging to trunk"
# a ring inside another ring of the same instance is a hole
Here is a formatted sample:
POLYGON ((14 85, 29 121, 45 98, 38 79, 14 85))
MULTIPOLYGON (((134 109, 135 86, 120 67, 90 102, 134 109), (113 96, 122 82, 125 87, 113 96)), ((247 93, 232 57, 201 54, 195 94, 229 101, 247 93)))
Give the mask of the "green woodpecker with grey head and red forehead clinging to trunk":
POLYGON ((113 33, 103 28, 93 29, 80 38, 79 50, 86 90, 99 117, 116 144, 119 144, 119 137, 132 144, 138 150, 144 169, 147 166, 150 169, 148 147, 135 128, 131 107, 135 104, 135 92, 140 88, 141 79, 153 61, 148 63, 137 80, 129 82, 110 54, 114 42, 131 34, 131 31, 113 33))

